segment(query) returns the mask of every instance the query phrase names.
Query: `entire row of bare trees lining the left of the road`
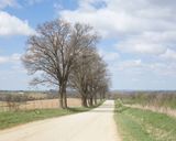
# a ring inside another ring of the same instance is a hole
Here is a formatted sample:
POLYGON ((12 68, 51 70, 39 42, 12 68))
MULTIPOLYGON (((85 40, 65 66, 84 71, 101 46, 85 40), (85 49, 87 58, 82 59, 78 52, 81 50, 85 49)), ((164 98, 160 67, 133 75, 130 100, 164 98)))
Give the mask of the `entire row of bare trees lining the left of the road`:
POLYGON ((55 85, 62 108, 67 108, 68 87, 79 93, 82 106, 92 106, 98 95, 105 97, 109 82, 106 63, 96 51, 98 41, 86 24, 54 20, 38 25, 22 57, 29 74, 37 74, 31 84, 55 85))

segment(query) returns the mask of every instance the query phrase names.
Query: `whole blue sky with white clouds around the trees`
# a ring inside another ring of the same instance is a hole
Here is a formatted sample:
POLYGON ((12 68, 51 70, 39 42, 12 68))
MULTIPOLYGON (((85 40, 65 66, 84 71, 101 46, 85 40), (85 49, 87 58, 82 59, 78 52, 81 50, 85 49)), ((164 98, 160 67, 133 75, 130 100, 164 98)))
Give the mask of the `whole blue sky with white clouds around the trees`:
POLYGON ((101 35, 111 89, 175 90, 175 0, 0 0, 0 89, 43 89, 20 58, 36 26, 59 18, 101 35))

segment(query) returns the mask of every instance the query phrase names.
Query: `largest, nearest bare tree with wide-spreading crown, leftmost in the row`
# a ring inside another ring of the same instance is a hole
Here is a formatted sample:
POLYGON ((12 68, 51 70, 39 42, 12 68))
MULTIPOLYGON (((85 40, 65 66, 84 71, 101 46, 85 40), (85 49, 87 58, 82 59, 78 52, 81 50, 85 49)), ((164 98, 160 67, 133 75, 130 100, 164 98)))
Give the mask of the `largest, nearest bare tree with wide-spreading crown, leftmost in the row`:
POLYGON ((61 107, 67 108, 66 88, 76 56, 97 43, 97 34, 89 25, 73 25, 63 20, 46 22, 36 33, 29 37, 22 61, 29 74, 41 74, 32 84, 57 86, 61 107))

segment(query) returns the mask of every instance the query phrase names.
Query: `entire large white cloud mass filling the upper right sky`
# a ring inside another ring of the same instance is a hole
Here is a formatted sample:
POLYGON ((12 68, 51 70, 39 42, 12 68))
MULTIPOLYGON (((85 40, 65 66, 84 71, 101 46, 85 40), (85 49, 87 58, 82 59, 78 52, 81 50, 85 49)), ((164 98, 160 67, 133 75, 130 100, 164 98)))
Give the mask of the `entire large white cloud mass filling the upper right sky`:
POLYGON ((160 56, 176 44, 174 0, 79 0, 78 6, 59 15, 94 25, 103 37, 120 41, 122 52, 160 56))

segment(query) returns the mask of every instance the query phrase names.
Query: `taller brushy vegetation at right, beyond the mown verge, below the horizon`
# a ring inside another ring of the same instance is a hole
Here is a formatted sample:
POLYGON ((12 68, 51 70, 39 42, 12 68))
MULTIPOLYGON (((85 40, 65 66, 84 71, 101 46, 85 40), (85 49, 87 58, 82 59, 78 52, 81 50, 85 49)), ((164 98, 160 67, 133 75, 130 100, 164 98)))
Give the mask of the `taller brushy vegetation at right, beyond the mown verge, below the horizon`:
POLYGON ((122 99, 123 104, 128 105, 154 106, 161 108, 176 109, 175 93, 136 91, 130 95, 118 94, 117 96, 118 98, 122 99))

